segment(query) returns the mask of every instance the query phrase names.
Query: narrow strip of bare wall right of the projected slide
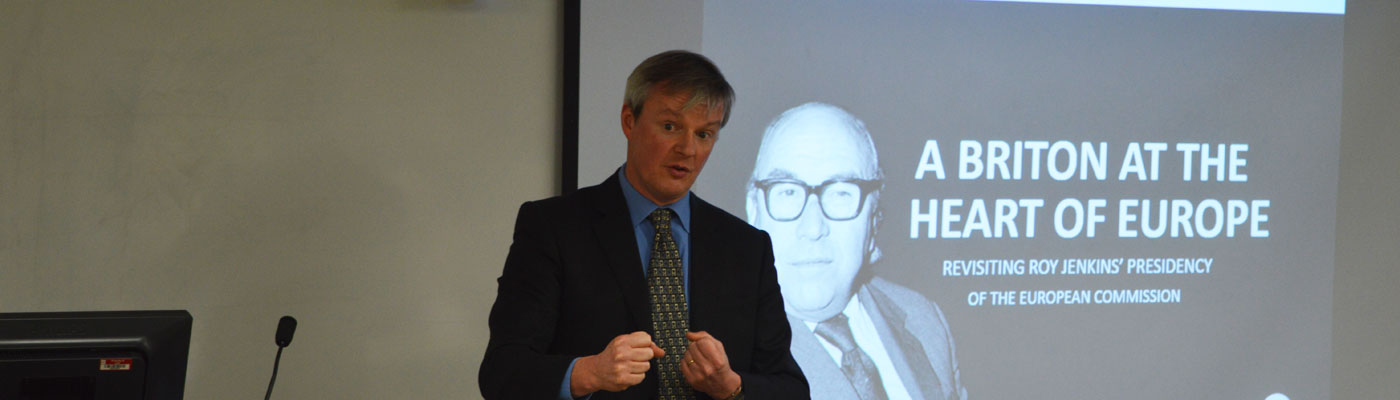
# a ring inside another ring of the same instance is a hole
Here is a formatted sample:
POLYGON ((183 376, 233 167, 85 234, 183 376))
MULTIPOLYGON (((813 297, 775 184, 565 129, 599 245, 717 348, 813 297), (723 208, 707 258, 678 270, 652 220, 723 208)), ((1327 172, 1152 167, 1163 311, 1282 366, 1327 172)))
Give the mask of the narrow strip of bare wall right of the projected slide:
POLYGON ((1400 3, 1347 1, 1334 399, 1400 397, 1400 3))

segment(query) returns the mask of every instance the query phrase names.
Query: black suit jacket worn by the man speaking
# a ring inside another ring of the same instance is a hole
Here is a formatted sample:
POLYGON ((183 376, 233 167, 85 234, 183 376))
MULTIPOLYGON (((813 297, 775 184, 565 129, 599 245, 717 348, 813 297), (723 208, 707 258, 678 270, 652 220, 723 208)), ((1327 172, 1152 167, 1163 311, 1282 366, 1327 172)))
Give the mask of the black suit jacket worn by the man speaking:
MULTIPOLYGON (((554 399, 570 361, 651 329, 647 283, 617 176, 521 206, 477 376, 486 399, 554 399)), ((724 344, 748 399, 808 399, 790 352, 767 234, 690 194, 690 330, 724 344)), ((637 386, 595 400, 652 399, 637 386)), ((699 399, 707 399, 700 393, 699 399)))

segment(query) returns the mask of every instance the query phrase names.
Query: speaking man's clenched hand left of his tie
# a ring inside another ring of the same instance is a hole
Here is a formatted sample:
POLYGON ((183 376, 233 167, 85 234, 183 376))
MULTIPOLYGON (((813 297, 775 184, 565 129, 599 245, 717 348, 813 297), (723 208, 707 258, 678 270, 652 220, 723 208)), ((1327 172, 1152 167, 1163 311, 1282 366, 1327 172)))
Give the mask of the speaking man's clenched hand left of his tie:
POLYGON ((651 358, 665 354, 666 351, 651 343, 651 336, 645 331, 613 337, 603 352, 580 358, 574 364, 574 373, 568 376, 568 390, 574 397, 598 390, 622 392, 641 383, 641 379, 647 378, 647 369, 651 369, 651 358))

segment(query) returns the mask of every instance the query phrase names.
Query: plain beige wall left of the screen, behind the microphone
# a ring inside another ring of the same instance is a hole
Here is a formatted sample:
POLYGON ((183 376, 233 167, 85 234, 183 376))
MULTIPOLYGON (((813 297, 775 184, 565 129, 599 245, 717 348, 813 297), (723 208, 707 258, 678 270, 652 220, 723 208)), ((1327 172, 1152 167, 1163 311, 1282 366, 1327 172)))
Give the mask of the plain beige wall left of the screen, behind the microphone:
POLYGON ((557 187, 543 0, 0 1, 0 312, 189 309, 186 399, 472 399, 557 187), (405 396, 406 393, 412 396, 405 396))

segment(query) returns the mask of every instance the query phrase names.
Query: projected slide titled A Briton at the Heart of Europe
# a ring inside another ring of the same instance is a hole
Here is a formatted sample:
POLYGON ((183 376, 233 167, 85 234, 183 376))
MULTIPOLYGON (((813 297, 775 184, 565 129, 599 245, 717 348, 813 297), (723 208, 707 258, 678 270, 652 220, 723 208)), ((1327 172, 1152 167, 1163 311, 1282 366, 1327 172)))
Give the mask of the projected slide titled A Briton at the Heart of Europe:
MULTIPOLYGON (((696 194, 771 234, 813 399, 1326 399, 1343 7, 1313 3, 704 1, 589 27, 637 7, 585 1, 581 141, 622 145, 616 76, 662 50, 589 57, 652 35, 598 32, 699 35, 672 48, 738 102, 696 194)), ((591 157, 582 185, 622 162, 591 157)))

